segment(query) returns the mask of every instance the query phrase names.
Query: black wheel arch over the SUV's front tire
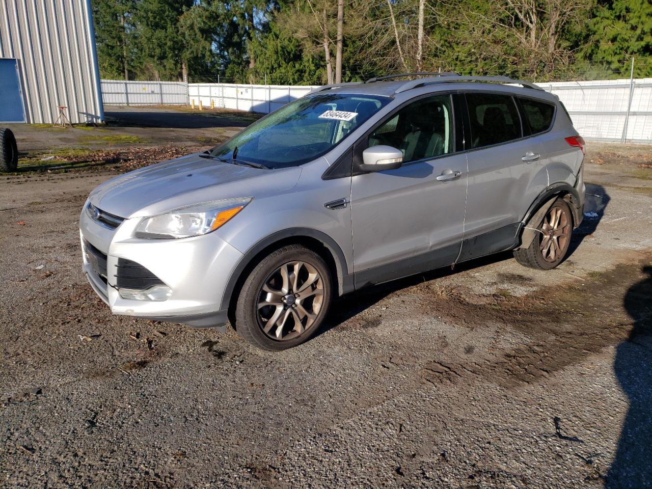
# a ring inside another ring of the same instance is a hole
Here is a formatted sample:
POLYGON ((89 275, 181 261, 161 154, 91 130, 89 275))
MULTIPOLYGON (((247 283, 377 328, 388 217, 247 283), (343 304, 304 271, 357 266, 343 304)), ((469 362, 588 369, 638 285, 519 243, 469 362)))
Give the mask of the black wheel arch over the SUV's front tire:
POLYGON ((261 239, 244 254, 231 272, 224 289, 221 308, 232 310, 233 301, 237 298, 238 291, 251 269, 271 251, 288 244, 302 244, 325 259, 333 271, 333 279, 336 281, 339 295, 353 291, 353 274, 349 273, 344 252, 333 238, 310 228, 289 228, 261 239))

